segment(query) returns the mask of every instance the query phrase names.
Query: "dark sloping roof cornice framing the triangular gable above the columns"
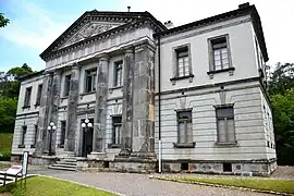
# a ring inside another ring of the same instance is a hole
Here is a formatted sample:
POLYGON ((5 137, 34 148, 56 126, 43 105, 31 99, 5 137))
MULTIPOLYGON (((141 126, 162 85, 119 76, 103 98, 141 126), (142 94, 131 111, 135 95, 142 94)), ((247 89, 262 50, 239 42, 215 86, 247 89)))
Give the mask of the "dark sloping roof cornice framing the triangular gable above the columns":
POLYGON ((133 24, 136 21, 150 20, 158 26, 159 30, 167 29, 167 27, 161 22, 159 22, 147 11, 145 12, 112 12, 112 11, 97 11, 97 10, 86 11, 68 29, 65 29, 65 32, 63 32, 42 53, 40 53, 40 58, 45 59, 45 57, 49 54, 51 51, 58 50, 59 47, 61 47, 68 40, 69 36, 75 34, 78 29, 81 29, 81 27, 84 24, 88 23, 91 20, 97 19, 101 19, 103 21, 113 20, 114 22, 124 22, 125 25, 131 23, 133 24))

